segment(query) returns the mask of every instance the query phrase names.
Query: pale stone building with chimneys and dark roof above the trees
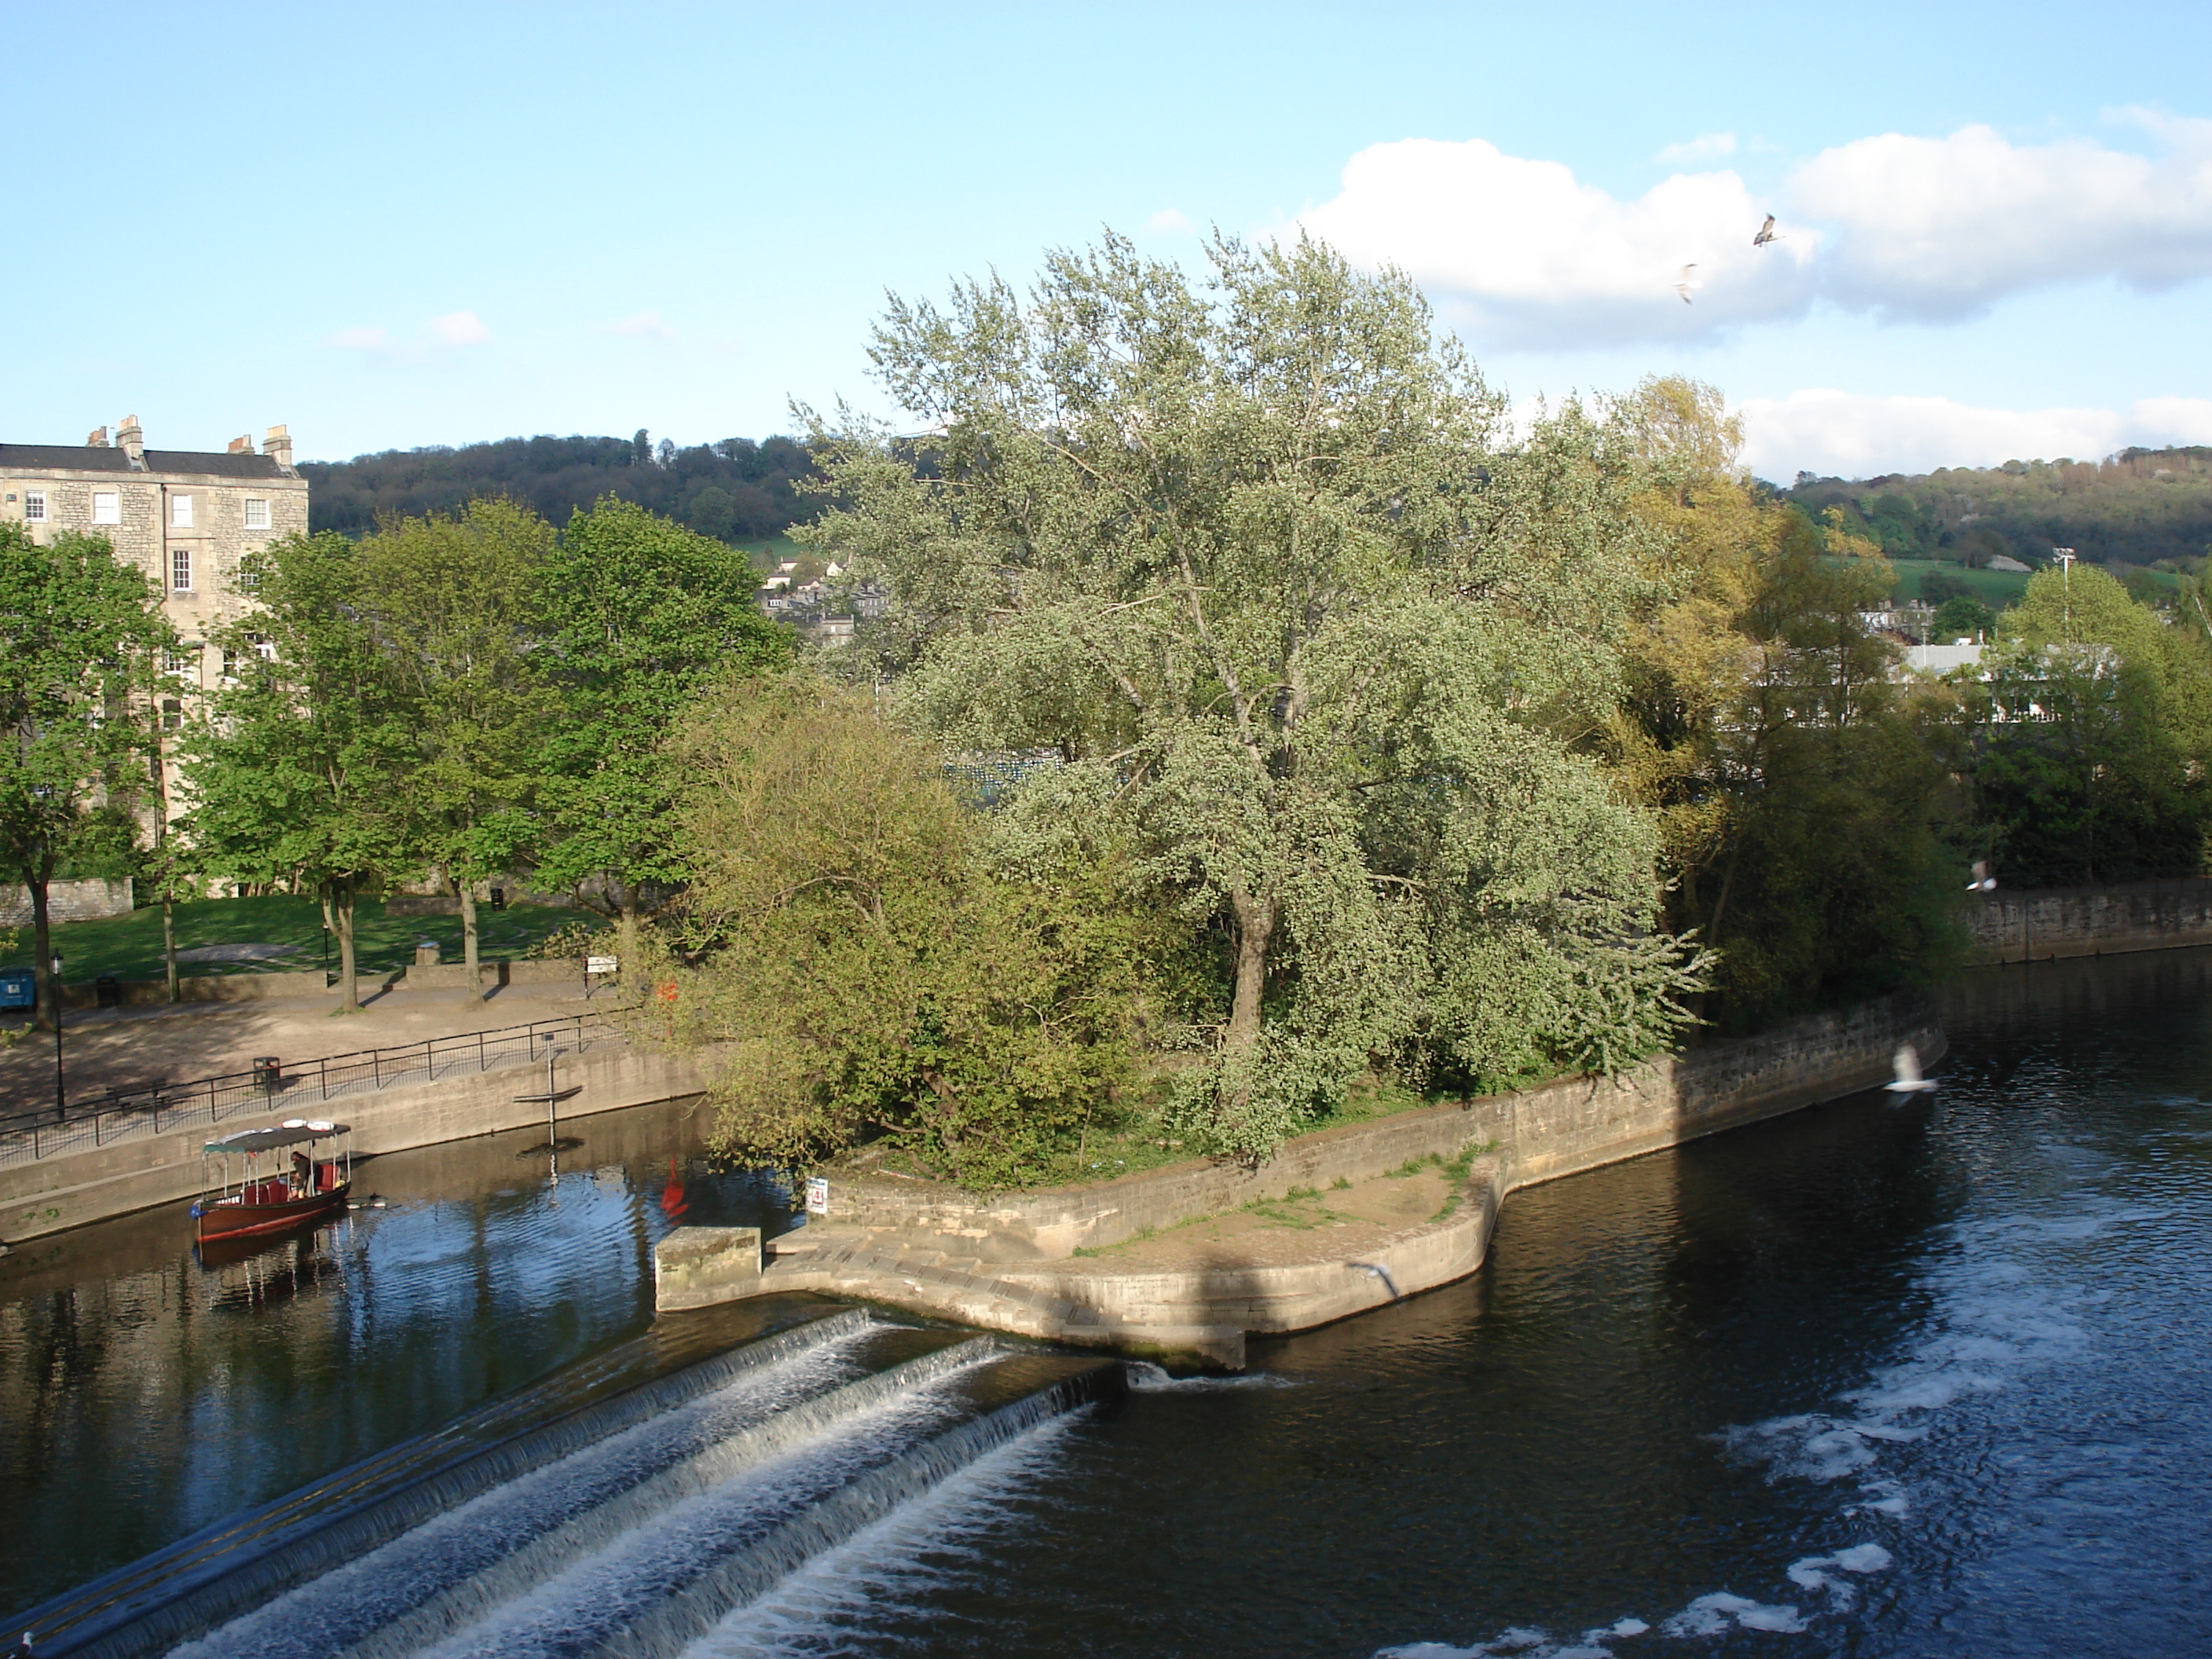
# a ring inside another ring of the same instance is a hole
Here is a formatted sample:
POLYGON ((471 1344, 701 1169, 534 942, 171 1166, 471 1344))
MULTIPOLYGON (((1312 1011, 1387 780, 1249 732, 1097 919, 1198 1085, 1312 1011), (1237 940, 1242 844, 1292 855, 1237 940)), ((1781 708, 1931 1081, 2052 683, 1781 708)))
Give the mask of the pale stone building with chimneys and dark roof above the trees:
POLYGON ((292 469, 292 436, 270 427, 228 451, 148 449, 137 416, 100 427, 84 447, 0 445, 0 518, 31 529, 106 535, 117 557, 159 588, 186 641, 173 664, 188 688, 212 688, 221 661, 208 633, 250 608, 237 591, 239 557, 307 529, 307 480, 292 469))

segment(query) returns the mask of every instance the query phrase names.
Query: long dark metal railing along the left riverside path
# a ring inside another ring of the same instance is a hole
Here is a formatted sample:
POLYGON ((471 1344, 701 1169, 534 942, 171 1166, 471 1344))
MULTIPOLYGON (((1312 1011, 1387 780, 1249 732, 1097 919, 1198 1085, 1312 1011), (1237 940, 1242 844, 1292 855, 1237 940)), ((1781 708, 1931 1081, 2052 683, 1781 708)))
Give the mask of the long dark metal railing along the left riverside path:
POLYGON ((71 1099, 60 1113, 53 1106, 0 1113, 0 1164, 27 1164, 144 1135, 170 1135, 188 1124, 212 1126, 241 1115, 299 1117, 323 1102, 429 1084, 456 1073, 544 1062, 546 1048, 577 1053, 619 1042, 628 1037, 604 1013, 564 1013, 524 1026, 361 1048, 274 1071, 257 1066, 186 1084, 106 1088, 71 1099))

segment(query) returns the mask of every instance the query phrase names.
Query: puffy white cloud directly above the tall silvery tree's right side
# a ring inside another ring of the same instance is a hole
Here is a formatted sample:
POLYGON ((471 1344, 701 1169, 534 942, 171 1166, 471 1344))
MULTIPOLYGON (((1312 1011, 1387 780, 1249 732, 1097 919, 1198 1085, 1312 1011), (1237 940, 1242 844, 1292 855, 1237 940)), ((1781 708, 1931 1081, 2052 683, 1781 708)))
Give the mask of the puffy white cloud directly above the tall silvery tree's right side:
POLYGON ((1763 217, 1734 173, 1677 173, 1635 201, 1559 161, 1469 139, 1360 150, 1301 223, 1347 257, 1405 268, 1484 343, 1690 338, 1803 314, 1818 237, 1752 248, 1763 217), (1697 265, 1694 301, 1674 283, 1697 265))

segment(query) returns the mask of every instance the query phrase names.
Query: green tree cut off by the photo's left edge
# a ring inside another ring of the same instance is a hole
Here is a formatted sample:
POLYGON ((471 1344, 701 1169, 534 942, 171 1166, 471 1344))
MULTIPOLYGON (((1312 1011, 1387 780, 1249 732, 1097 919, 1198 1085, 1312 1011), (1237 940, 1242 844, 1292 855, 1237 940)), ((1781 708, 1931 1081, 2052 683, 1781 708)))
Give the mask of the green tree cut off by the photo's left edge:
POLYGON ((31 889, 40 1020, 60 1006, 46 889, 128 867, 144 799, 144 695, 175 644, 144 573, 106 538, 40 546, 0 522, 0 869, 31 889))

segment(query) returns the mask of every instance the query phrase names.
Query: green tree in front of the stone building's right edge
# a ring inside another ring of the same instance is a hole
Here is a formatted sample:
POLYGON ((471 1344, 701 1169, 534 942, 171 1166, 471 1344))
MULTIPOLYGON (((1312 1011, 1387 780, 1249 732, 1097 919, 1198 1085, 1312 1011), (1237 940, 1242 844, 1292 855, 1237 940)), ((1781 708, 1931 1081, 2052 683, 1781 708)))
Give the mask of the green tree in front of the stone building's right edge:
POLYGON ((223 679, 186 745, 190 836, 210 874, 323 896, 338 1006, 358 1013, 354 905, 420 867, 420 734, 354 542, 283 538, 246 555, 241 586, 254 608, 215 630, 223 679))

